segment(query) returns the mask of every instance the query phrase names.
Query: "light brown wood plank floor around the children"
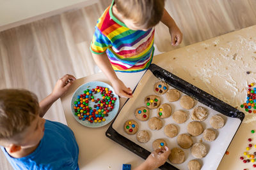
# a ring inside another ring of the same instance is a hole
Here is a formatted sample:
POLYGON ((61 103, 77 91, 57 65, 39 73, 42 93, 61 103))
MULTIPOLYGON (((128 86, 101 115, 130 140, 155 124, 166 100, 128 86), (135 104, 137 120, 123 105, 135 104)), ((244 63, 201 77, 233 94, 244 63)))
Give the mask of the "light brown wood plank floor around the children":
MULTIPOLYGON (((89 46, 97 18, 110 2, 101 0, 0 32, 0 89, 24 88, 43 99, 66 73, 76 78, 97 73, 89 46)), ((161 52, 256 24, 255 0, 166 0, 166 10, 184 39, 172 47, 167 27, 157 25, 155 44, 161 52)), ((45 118, 65 123, 60 101, 45 118)), ((2 152, 0 156, 0 169, 12 169, 2 152)))

